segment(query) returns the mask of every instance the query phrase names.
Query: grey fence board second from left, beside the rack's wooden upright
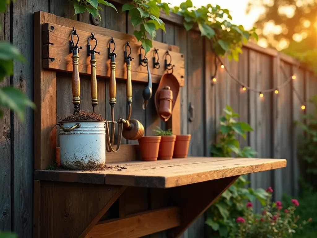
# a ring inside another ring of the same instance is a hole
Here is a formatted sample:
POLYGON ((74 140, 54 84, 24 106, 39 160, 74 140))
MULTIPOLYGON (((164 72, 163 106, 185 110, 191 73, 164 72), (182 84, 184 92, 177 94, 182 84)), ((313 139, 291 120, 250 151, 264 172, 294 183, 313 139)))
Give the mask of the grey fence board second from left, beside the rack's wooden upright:
MULTIPOLYGON (((13 44, 22 51, 26 62, 14 63, 13 85, 28 98, 34 98, 34 39, 33 13, 48 11, 48 0, 12 3, 13 44)), ((12 115, 13 126, 13 224, 11 228, 19 237, 31 237, 33 230, 33 170, 34 170, 34 112, 25 110, 24 122, 16 113, 12 115)), ((35 125, 40 126, 40 125, 35 125)), ((12 182, 12 181, 11 181, 12 182)))

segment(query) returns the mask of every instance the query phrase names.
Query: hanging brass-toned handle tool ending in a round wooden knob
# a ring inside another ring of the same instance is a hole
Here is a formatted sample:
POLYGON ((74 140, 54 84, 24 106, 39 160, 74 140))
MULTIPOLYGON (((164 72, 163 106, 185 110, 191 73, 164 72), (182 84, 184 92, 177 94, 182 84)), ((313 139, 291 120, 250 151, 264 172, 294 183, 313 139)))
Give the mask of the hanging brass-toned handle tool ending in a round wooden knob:
POLYGON ((131 61, 134 59, 131 56, 131 46, 126 42, 124 51, 124 61, 126 62, 126 102, 129 107, 129 113, 126 120, 122 119, 123 132, 122 135, 128 140, 138 140, 144 134, 144 127, 141 122, 136 119, 130 119, 132 113, 132 82, 131 82, 131 61), (129 48, 130 53, 127 53, 129 48))

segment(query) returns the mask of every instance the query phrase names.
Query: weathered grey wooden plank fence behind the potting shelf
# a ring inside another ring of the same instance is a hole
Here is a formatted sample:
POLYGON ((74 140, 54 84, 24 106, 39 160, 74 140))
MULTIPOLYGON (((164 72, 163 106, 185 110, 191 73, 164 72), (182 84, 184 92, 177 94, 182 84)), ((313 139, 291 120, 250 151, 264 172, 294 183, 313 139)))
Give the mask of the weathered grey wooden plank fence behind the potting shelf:
MULTIPOLYGON (((119 14, 112 8, 104 8, 101 13, 99 26, 116 31, 132 34, 134 29, 126 13, 120 13, 124 1, 115 1, 119 14)), ((33 12, 46 11, 57 16, 91 23, 88 13, 74 16, 71 1, 65 0, 19 0, 13 3, 5 14, 1 15, 2 32, 0 39, 11 41, 18 47, 27 60, 27 64, 16 62, 14 76, 6 77, 0 86, 14 85, 23 90, 29 98, 34 98, 33 80, 33 12)), ((283 88, 264 94, 260 98, 258 93, 243 91, 224 69, 219 68, 217 82, 211 83, 214 74, 214 55, 210 44, 200 37, 199 32, 186 30, 182 27, 182 19, 177 15, 162 18, 166 23, 166 34, 159 30, 156 41, 175 44, 180 47, 186 59, 185 85, 180 92, 181 100, 181 133, 192 135, 190 155, 209 156, 212 143, 217 138, 219 118, 223 108, 230 105, 241 115, 240 119, 249 122, 254 128, 247 140, 240 138, 242 146, 250 145, 258 152, 258 157, 285 158, 288 166, 285 169, 251 174, 253 188, 275 189, 275 198, 281 198, 282 192, 296 195, 298 193, 297 178, 300 174, 299 162, 296 156, 297 137, 301 130, 294 127, 294 120, 300 119, 305 112, 313 108, 307 105, 306 110, 301 110, 301 102, 296 97, 292 88, 299 95, 307 99, 317 93, 317 81, 313 73, 300 68, 294 72, 296 62, 294 59, 279 54, 275 50, 268 50, 254 44, 243 47, 243 54, 239 62, 229 62, 224 59, 225 66, 246 85, 256 89, 268 89, 281 85, 287 76, 296 75, 283 88), (189 108, 193 107, 193 121, 189 122, 189 108)), ((68 94, 61 85, 70 83, 70 75, 57 74, 57 95, 69 101, 68 94)), ((89 78, 82 77, 81 87, 89 87, 89 78)), ((109 118, 107 110, 108 81, 98 80, 99 108, 101 114, 109 118)), ((156 116, 153 102, 148 110, 141 109, 141 92, 143 84, 133 84, 133 118, 140 120, 146 127, 146 134, 150 135, 152 129, 159 125, 165 127, 156 116)), ((155 85, 154 85, 155 90, 155 85)), ((85 96, 83 96, 85 97, 85 96)), ((117 112, 126 114, 125 83, 117 83, 117 112), (119 99, 121 98, 121 99, 119 99)), ((89 107, 89 97, 83 98, 89 107)), ((68 108, 69 109, 69 108, 68 108)), ((65 116, 71 111, 63 105, 57 105, 58 116, 65 116)), ((25 121, 20 122, 15 113, 4 109, 3 118, 0 120, 0 229, 14 230, 20 237, 32 236, 33 216, 33 170, 34 170, 34 123, 33 111, 26 110, 25 121)), ((124 141, 123 143, 130 143, 124 141)), ((189 228, 183 237, 203 237, 204 217, 198 219, 189 228)), ((164 233, 150 235, 149 237, 164 237, 164 233)))

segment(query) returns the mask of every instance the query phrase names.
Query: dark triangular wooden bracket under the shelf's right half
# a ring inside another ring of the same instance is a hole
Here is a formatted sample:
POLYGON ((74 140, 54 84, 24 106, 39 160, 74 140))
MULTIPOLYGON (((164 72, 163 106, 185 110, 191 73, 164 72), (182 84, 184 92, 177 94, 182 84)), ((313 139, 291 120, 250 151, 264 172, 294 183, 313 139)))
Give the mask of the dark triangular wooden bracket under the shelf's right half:
POLYGON ((177 238, 182 235, 238 177, 232 176, 174 188, 174 203, 181 208, 181 225, 170 229, 168 237, 177 238))

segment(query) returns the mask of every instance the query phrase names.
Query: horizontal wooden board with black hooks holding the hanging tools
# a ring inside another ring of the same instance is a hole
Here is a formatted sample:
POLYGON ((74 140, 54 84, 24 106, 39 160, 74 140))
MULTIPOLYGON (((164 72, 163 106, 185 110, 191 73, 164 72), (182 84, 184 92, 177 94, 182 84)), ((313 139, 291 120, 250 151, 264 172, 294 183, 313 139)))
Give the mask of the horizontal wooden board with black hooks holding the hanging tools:
MULTIPOLYGON (((83 23, 85 24, 85 23, 83 23)), ((82 46, 82 49, 79 52, 79 73, 90 75, 90 56, 87 55, 87 40, 91 36, 91 25, 85 24, 85 27, 76 28, 77 34, 79 35, 78 46, 82 46)), ((73 28, 53 24, 53 23, 44 23, 42 27, 43 31, 43 68, 52 69, 56 71, 64 71, 71 73, 73 70, 72 65, 72 54, 69 52, 69 41, 71 38, 71 33, 73 28), (53 29, 53 30, 52 30, 53 29), (54 61, 51 60, 54 58, 54 61)), ((126 63, 124 62, 124 50, 126 39, 115 38, 113 35, 101 35, 98 32, 94 32, 95 37, 98 40, 96 51, 100 51, 100 55, 96 54, 97 67, 96 74, 97 77, 109 77, 110 76, 110 59, 108 58, 108 47, 111 37, 113 37, 114 42, 116 43, 115 53, 116 57, 116 77, 120 79, 126 79, 126 63)), ((73 37, 74 42, 76 43, 77 37, 73 37)), ((92 48, 94 47, 94 40, 91 40, 90 44, 92 48)), ((131 78, 132 81, 147 82, 147 67, 139 65, 139 54, 140 54, 140 42, 130 42, 129 43, 132 49, 131 56, 134 57, 134 60, 131 61, 131 78)), ((148 64, 152 76, 153 83, 159 83, 162 75, 167 73, 165 70, 165 49, 159 48, 162 43, 156 45, 156 42, 153 41, 153 48, 150 52, 147 53, 148 64), (155 69, 153 67, 153 56, 154 56, 154 47, 158 49, 160 68, 155 69)), ((111 44, 113 49, 113 44, 111 44)), ((166 47, 165 47, 166 48, 166 47)), ((174 46, 169 47, 172 50, 179 51, 174 46)), ((142 50, 144 54, 144 50, 142 50)), ((184 55, 178 52, 169 51, 171 55, 171 63, 175 65, 174 75, 176 76, 179 84, 184 85, 184 55)), ((143 55, 144 56, 144 55, 143 55)), ((168 58, 169 60, 169 58, 168 58)))

